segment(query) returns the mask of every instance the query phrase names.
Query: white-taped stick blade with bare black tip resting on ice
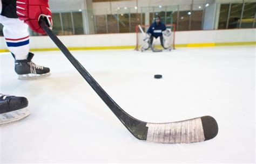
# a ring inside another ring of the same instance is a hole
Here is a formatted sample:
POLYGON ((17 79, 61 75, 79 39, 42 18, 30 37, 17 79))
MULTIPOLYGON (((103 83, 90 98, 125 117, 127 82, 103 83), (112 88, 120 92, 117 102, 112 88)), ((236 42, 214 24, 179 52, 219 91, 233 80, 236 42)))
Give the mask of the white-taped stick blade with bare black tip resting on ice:
POLYGON ((218 124, 211 116, 173 123, 147 123, 146 141, 162 144, 181 144, 209 140, 217 136, 218 124))

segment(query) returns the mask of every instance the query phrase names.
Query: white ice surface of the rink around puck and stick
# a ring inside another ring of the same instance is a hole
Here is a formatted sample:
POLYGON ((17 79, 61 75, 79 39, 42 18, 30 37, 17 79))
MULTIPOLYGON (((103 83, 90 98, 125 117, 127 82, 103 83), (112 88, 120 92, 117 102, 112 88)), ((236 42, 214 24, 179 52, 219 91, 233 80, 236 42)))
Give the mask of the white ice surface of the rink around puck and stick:
POLYGON ((1 53, 3 94, 29 99, 31 116, 0 127, 0 163, 255 162, 255 46, 173 52, 72 51, 127 113, 146 122, 210 115, 218 136, 194 144, 153 144, 126 130, 68 59, 35 52, 51 76, 19 81, 1 53), (163 79, 154 79, 155 74, 163 79))

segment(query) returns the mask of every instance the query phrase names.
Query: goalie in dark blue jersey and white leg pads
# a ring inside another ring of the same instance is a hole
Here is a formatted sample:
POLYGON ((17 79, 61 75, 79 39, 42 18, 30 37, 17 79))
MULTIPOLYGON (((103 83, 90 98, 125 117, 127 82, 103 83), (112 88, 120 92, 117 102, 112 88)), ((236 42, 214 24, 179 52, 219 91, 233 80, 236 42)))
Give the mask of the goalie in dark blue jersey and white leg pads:
POLYGON ((145 44, 140 48, 142 52, 146 51, 147 49, 151 48, 153 52, 162 52, 161 49, 155 49, 153 47, 153 40, 154 38, 160 38, 161 46, 164 48, 165 51, 171 51, 171 45, 168 43, 167 40, 170 40, 171 37, 171 29, 166 28, 165 24, 161 22, 160 17, 157 16, 155 18, 155 22, 151 24, 149 30, 145 34, 143 41, 145 44))

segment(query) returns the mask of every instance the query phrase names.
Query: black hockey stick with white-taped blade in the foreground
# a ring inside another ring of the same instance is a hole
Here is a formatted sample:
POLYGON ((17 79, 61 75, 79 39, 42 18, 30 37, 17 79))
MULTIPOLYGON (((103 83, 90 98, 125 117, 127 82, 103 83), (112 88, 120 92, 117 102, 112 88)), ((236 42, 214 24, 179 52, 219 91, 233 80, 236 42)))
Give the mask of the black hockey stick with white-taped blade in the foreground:
POLYGON ((173 123, 146 123, 133 118, 118 106, 107 95, 102 87, 93 79, 87 70, 69 52, 68 48, 57 38, 43 20, 39 22, 43 30, 49 35, 60 51, 68 58, 72 65, 97 92, 99 97, 109 106, 110 110, 124 124, 134 137, 140 140, 177 144, 205 141, 214 138, 218 133, 218 124, 211 116, 198 117, 173 123))

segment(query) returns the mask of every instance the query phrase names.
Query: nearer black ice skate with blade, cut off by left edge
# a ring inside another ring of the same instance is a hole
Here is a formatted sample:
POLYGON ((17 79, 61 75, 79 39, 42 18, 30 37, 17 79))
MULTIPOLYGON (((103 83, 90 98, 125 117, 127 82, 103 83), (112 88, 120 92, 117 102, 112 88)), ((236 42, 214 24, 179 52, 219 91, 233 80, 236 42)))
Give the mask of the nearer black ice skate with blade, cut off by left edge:
POLYGON ((30 115, 28 99, 0 94, 0 126, 17 122, 30 115))

